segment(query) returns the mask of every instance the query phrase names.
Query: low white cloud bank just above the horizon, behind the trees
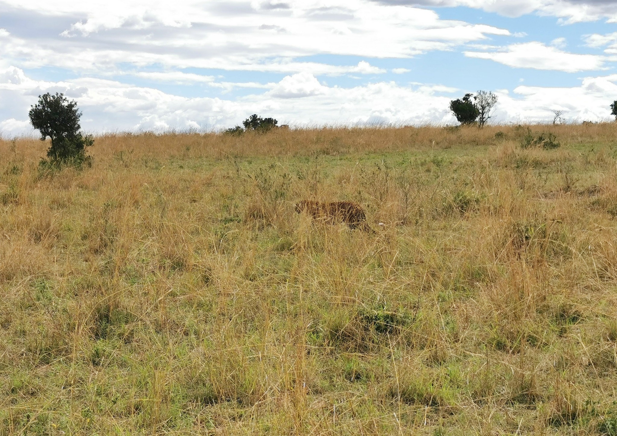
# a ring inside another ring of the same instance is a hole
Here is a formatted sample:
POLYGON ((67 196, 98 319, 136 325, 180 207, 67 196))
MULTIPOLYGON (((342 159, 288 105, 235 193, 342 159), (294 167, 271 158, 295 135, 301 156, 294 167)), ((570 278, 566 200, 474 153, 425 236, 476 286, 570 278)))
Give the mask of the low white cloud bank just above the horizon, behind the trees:
MULTIPOLYGON (((6 71, 0 71, 0 74, 6 71)), ((573 121, 610 117, 608 102, 617 100, 617 75, 582 79, 576 87, 518 86, 497 91, 495 122, 551 121, 552 108, 573 121)), ((273 116, 281 124, 394 123, 455 124, 449 102, 464 90, 439 84, 399 85, 379 82, 354 87, 326 86, 309 73, 286 76, 271 91, 234 100, 181 97, 118 81, 81 78, 41 82, 27 76, 21 84, 0 84, 0 134, 32 132, 28 109, 39 92, 86 90, 77 97, 87 131, 140 129, 222 129, 252 113, 273 116)))

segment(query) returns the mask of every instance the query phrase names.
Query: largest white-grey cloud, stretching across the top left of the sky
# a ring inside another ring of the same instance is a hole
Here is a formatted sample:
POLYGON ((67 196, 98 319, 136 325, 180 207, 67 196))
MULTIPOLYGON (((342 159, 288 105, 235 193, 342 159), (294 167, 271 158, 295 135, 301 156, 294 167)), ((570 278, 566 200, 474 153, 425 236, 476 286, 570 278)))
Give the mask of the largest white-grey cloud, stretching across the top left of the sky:
MULTIPOLYGON (((319 67, 294 61, 309 55, 413 57, 510 34, 496 26, 442 20, 433 10, 384 6, 368 0, 332 0, 328 6, 321 0, 290 0, 284 3, 286 7, 263 7, 243 0, 186 0, 180 4, 1 0, 0 6, 3 4, 15 14, 48 22, 50 28, 56 23, 55 34, 44 38, 37 37, 36 20, 30 20, 32 28, 27 31, 10 33, 7 29, 0 33, 0 59, 28 68, 109 71, 128 63, 135 67, 161 65, 168 70, 194 67, 295 73, 319 67), (74 21, 67 26, 68 17, 74 21)), ((24 20, 25 26, 28 22, 24 20)), ((365 62, 347 70, 383 72, 365 62)))

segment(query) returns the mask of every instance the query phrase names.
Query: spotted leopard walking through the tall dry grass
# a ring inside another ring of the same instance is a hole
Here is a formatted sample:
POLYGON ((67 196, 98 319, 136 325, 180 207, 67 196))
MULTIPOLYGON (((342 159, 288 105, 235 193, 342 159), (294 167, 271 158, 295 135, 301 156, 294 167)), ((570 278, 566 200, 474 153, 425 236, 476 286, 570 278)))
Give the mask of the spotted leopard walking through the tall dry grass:
POLYGON ((315 201, 300 200, 296 203, 296 212, 305 212, 315 220, 328 224, 344 223, 352 229, 360 229, 368 233, 375 230, 366 224, 366 212, 358 203, 352 201, 315 201))

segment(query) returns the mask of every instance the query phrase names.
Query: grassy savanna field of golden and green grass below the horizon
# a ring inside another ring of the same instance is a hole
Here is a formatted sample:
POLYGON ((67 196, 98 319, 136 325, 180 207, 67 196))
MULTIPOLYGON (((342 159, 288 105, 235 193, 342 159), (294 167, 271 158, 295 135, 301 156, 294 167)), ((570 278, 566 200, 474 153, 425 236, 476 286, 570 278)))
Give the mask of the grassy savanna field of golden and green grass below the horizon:
POLYGON ((617 435, 617 124, 46 147, 0 140, 0 435, 617 435))

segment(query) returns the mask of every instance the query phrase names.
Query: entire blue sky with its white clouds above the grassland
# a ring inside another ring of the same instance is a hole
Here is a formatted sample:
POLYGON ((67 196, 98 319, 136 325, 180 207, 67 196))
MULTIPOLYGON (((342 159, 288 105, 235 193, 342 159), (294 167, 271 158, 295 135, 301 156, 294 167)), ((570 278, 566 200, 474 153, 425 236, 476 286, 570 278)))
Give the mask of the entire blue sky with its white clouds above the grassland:
POLYGON ((86 131, 610 119, 617 1, 0 0, 0 134, 64 92, 86 131))

